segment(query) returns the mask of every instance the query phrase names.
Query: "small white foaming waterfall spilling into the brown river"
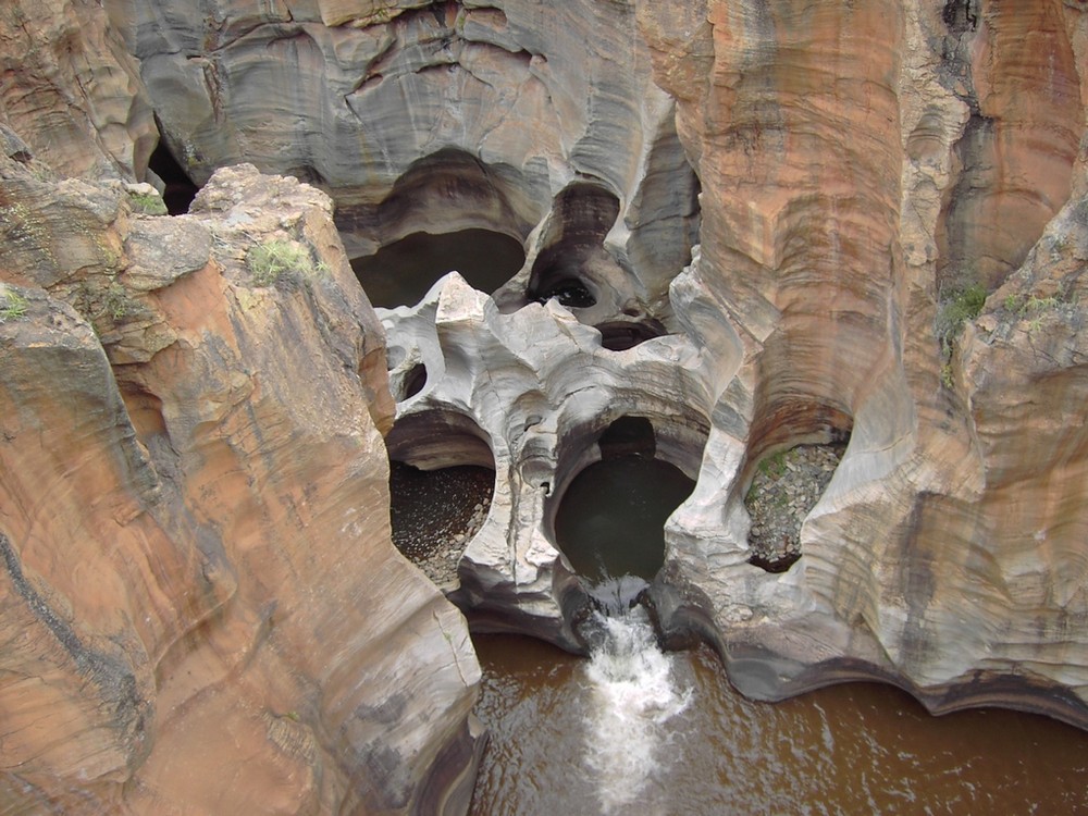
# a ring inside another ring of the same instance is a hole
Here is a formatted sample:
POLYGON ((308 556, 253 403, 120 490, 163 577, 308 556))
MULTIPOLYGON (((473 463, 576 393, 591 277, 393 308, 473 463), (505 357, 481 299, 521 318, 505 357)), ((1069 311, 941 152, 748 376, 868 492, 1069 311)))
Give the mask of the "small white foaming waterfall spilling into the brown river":
POLYGON ((633 812, 635 803, 639 813, 653 813, 647 794, 665 761, 664 726, 691 701, 692 690, 678 688, 672 662, 634 601, 644 586, 629 576, 605 581, 592 592, 605 614, 586 621, 592 703, 585 752, 604 814, 633 812))

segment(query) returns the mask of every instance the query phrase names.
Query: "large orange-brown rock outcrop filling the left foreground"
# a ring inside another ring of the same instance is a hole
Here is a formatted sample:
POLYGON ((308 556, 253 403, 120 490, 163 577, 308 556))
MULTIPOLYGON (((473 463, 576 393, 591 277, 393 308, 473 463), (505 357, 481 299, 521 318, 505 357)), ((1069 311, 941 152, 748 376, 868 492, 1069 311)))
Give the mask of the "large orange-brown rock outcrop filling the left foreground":
POLYGON ((390 540, 327 197, 2 171, 4 812, 462 812, 479 668, 390 540))

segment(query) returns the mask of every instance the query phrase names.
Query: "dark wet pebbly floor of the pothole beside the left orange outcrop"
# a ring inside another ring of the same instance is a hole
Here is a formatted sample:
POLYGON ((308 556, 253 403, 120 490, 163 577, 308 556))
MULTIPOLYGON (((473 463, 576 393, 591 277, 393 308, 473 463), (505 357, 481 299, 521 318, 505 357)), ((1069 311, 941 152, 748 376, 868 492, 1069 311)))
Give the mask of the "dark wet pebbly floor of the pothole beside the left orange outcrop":
POLYGON ((390 463, 393 543, 440 588, 457 582, 457 562, 480 532, 495 472, 478 466, 420 470, 390 463))

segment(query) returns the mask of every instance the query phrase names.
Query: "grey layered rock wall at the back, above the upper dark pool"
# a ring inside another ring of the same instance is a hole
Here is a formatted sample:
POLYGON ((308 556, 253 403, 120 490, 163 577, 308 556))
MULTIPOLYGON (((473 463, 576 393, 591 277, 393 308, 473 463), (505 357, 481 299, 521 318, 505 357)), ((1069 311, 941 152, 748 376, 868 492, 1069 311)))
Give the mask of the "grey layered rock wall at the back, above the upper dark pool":
MULTIPOLYGON (((602 300, 618 283, 625 308, 665 319, 697 183, 633 8, 421 5, 224 2, 212 35, 197 10, 152 2, 132 25, 165 137, 198 182, 239 161, 313 181, 353 255, 419 231, 523 239, 553 197, 592 185, 619 210, 596 236, 614 267, 602 300)), ((558 240, 539 234, 530 263, 558 240)), ((532 274, 500 299, 523 305, 532 274)))

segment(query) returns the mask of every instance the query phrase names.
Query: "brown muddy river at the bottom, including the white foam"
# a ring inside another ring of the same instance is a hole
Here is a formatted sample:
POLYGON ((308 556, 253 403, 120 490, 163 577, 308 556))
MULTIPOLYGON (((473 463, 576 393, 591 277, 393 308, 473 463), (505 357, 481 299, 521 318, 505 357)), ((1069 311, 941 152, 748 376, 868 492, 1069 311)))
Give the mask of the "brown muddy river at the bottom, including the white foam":
POLYGON ((638 634, 592 660, 474 641, 491 730, 475 816, 1088 813, 1088 733, 1044 717, 931 717, 868 683, 755 703, 710 650, 638 634))

